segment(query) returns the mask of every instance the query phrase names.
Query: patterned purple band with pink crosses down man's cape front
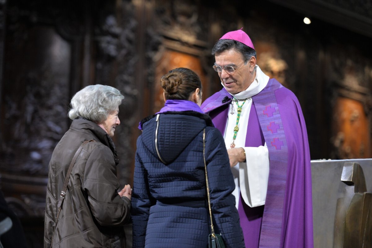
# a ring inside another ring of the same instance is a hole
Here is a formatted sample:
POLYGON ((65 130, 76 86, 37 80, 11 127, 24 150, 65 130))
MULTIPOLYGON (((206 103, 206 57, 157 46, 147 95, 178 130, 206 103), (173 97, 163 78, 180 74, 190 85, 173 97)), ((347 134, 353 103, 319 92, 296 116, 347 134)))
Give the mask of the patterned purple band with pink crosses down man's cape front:
POLYGON ((283 87, 276 80, 269 80, 265 90, 253 96, 261 130, 269 149, 270 173, 261 225, 260 247, 282 247, 283 206, 288 166, 288 146, 280 118, 275 90, 283 87))

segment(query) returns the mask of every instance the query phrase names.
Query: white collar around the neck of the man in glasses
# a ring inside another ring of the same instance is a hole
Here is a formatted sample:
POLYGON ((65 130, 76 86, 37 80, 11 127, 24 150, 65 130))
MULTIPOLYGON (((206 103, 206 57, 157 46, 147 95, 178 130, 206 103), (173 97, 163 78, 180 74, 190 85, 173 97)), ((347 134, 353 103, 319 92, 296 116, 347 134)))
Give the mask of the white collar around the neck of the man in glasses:
MULTIPOLYGON (((267 83, 269 82, 269 79, 270 77, 264 74, 260 67, 256 65, 256 78, 254 78, 251 85, 246 90, 243 90, 237 94, 231 93, 230 94, 236 99, 246 99, 255 96, 266 87, 267 83)), ((221 84, 223 87, 225 87, 222 82, 221 84)))

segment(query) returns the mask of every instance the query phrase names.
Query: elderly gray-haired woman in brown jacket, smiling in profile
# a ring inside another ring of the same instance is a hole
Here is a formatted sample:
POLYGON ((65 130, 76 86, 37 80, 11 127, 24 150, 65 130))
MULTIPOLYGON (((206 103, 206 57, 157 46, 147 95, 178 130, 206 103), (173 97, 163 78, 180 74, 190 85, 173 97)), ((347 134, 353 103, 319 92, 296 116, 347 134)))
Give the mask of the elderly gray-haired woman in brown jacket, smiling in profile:
POLYGON ((125 247, 131 188, 126 185, 119 191, 119 160, 111 139, 120 124, 123 99, 116 88, 99 84, 71 99, 68 116, 73 122, 49 162, 44 247, 125 247), (71 160, 84 141, 92 142, 83 146, 68 177, 71 160), (66 177, 67 190, 58 207, 66 177))

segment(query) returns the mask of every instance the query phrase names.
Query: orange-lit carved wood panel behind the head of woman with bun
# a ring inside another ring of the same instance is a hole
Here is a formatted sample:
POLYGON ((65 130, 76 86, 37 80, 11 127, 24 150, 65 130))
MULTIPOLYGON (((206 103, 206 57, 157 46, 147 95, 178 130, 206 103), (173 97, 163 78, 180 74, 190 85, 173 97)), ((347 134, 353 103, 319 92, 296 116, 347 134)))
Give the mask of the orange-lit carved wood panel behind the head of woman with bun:
MULTIPOLYGON (((193 1, 158 1, 155 6, 156 17, 153 23, 151 39, 157 41, 157 52, 152 52, 153 75, 148 80, 153 89, 150 103, 150 114, 158 112, 164 106, 163 89, 160 86, 160 78, 177 67, 186 67, 195 71, 201 78, 205 92, 208 92, 204 73, 207 68, 205 55, 206 32, 201 32, 201 19, 198 7, 193 1)), ((152 30, 152 29, 149 29, 152 30)), ((153 47, 153 46, 150 46, 153 47)), ((209 68, 212 70, 212 68, 209 68)))

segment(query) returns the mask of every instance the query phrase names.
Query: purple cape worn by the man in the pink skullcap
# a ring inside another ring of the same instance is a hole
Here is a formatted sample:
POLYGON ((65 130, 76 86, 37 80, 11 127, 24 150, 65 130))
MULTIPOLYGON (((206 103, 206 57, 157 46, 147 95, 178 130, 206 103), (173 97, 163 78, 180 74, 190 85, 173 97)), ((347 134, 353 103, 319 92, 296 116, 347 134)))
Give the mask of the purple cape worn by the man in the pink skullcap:
MULTIPOLYGON (((231 98, 223 88, 202 104, 222 133, 231 98)), ((246 247, 312 248, 310 151, 301 107, 295 95, 275 79, 252 99, 246 146, 266 141, 270 170, 264 206, 251 208, 240 196, 238 211, 246 247)))

